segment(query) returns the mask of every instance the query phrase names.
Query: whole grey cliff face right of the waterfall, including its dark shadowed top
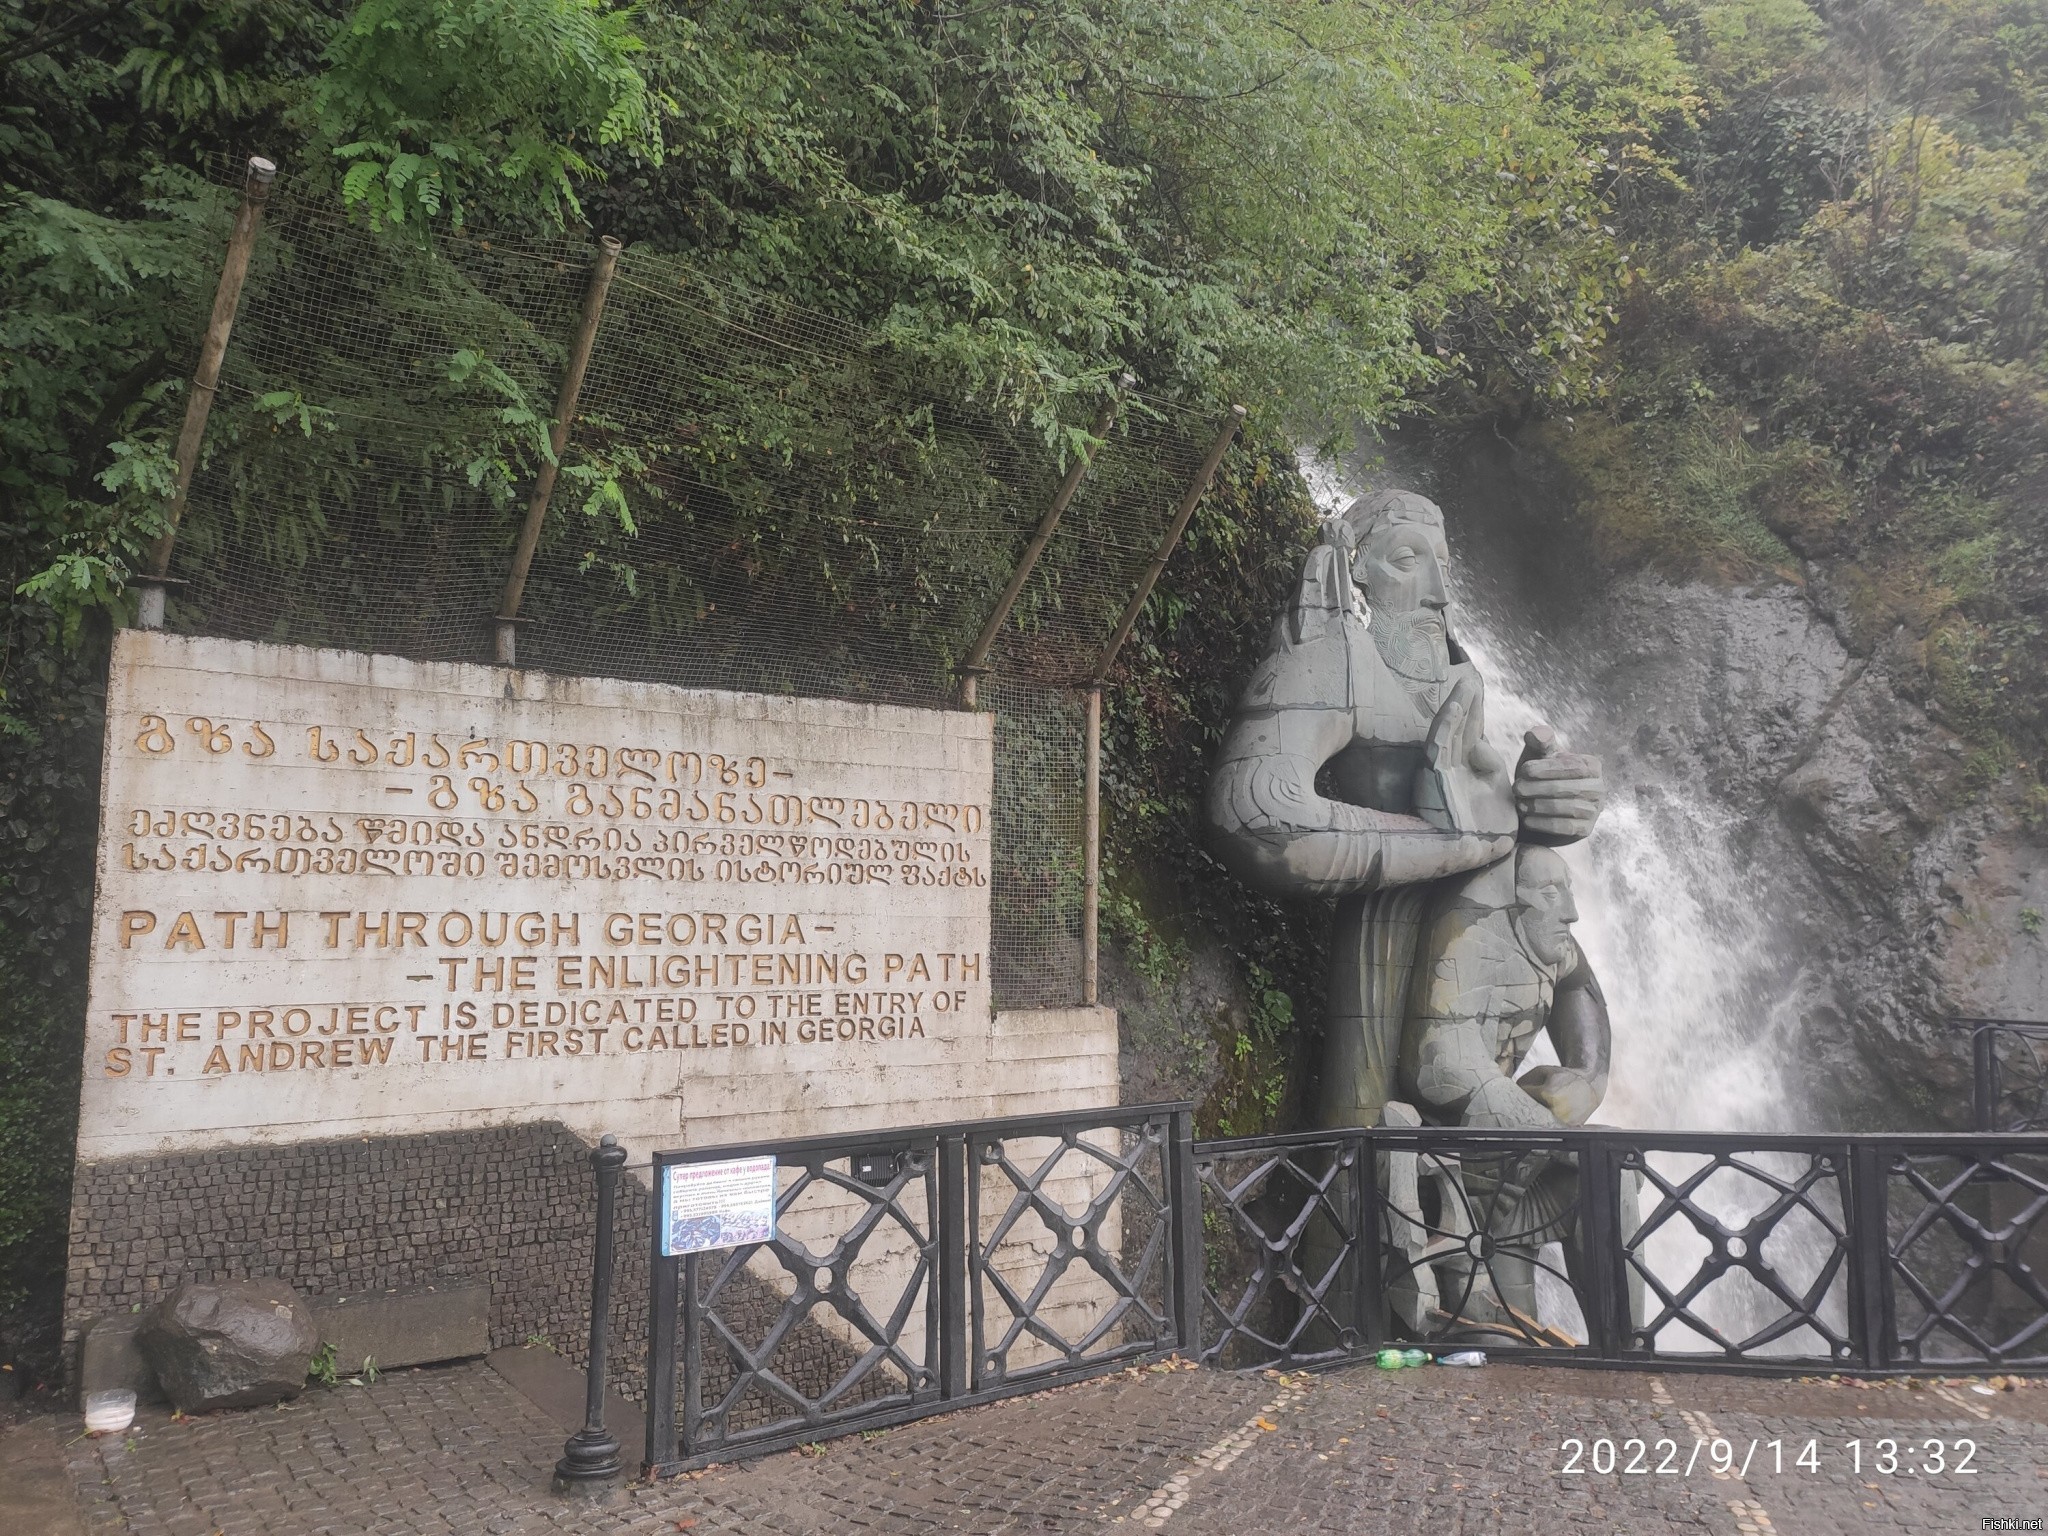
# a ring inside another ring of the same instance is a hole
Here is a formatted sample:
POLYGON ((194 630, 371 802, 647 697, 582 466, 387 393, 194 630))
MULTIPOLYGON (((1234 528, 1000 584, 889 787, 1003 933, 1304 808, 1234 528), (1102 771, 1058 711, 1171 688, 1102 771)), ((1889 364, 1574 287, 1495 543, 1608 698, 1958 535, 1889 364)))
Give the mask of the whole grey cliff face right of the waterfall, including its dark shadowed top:
POLYGON ((1602 578, 1540 465, 1489 446, 1436 469, 1475 606, 1550 657, 1616 793, 1696 797, 1729 829, 1763 918, 1743 942, 1769 950, 1741 963, 1778 993, 1753 1006, 1788 1020, 1784 1128, 1966 1126, 1948 1020, 2048 1018, 2048 844, 1915 702, 1911 639, 1849 635, 1821 567, 1602 578))

